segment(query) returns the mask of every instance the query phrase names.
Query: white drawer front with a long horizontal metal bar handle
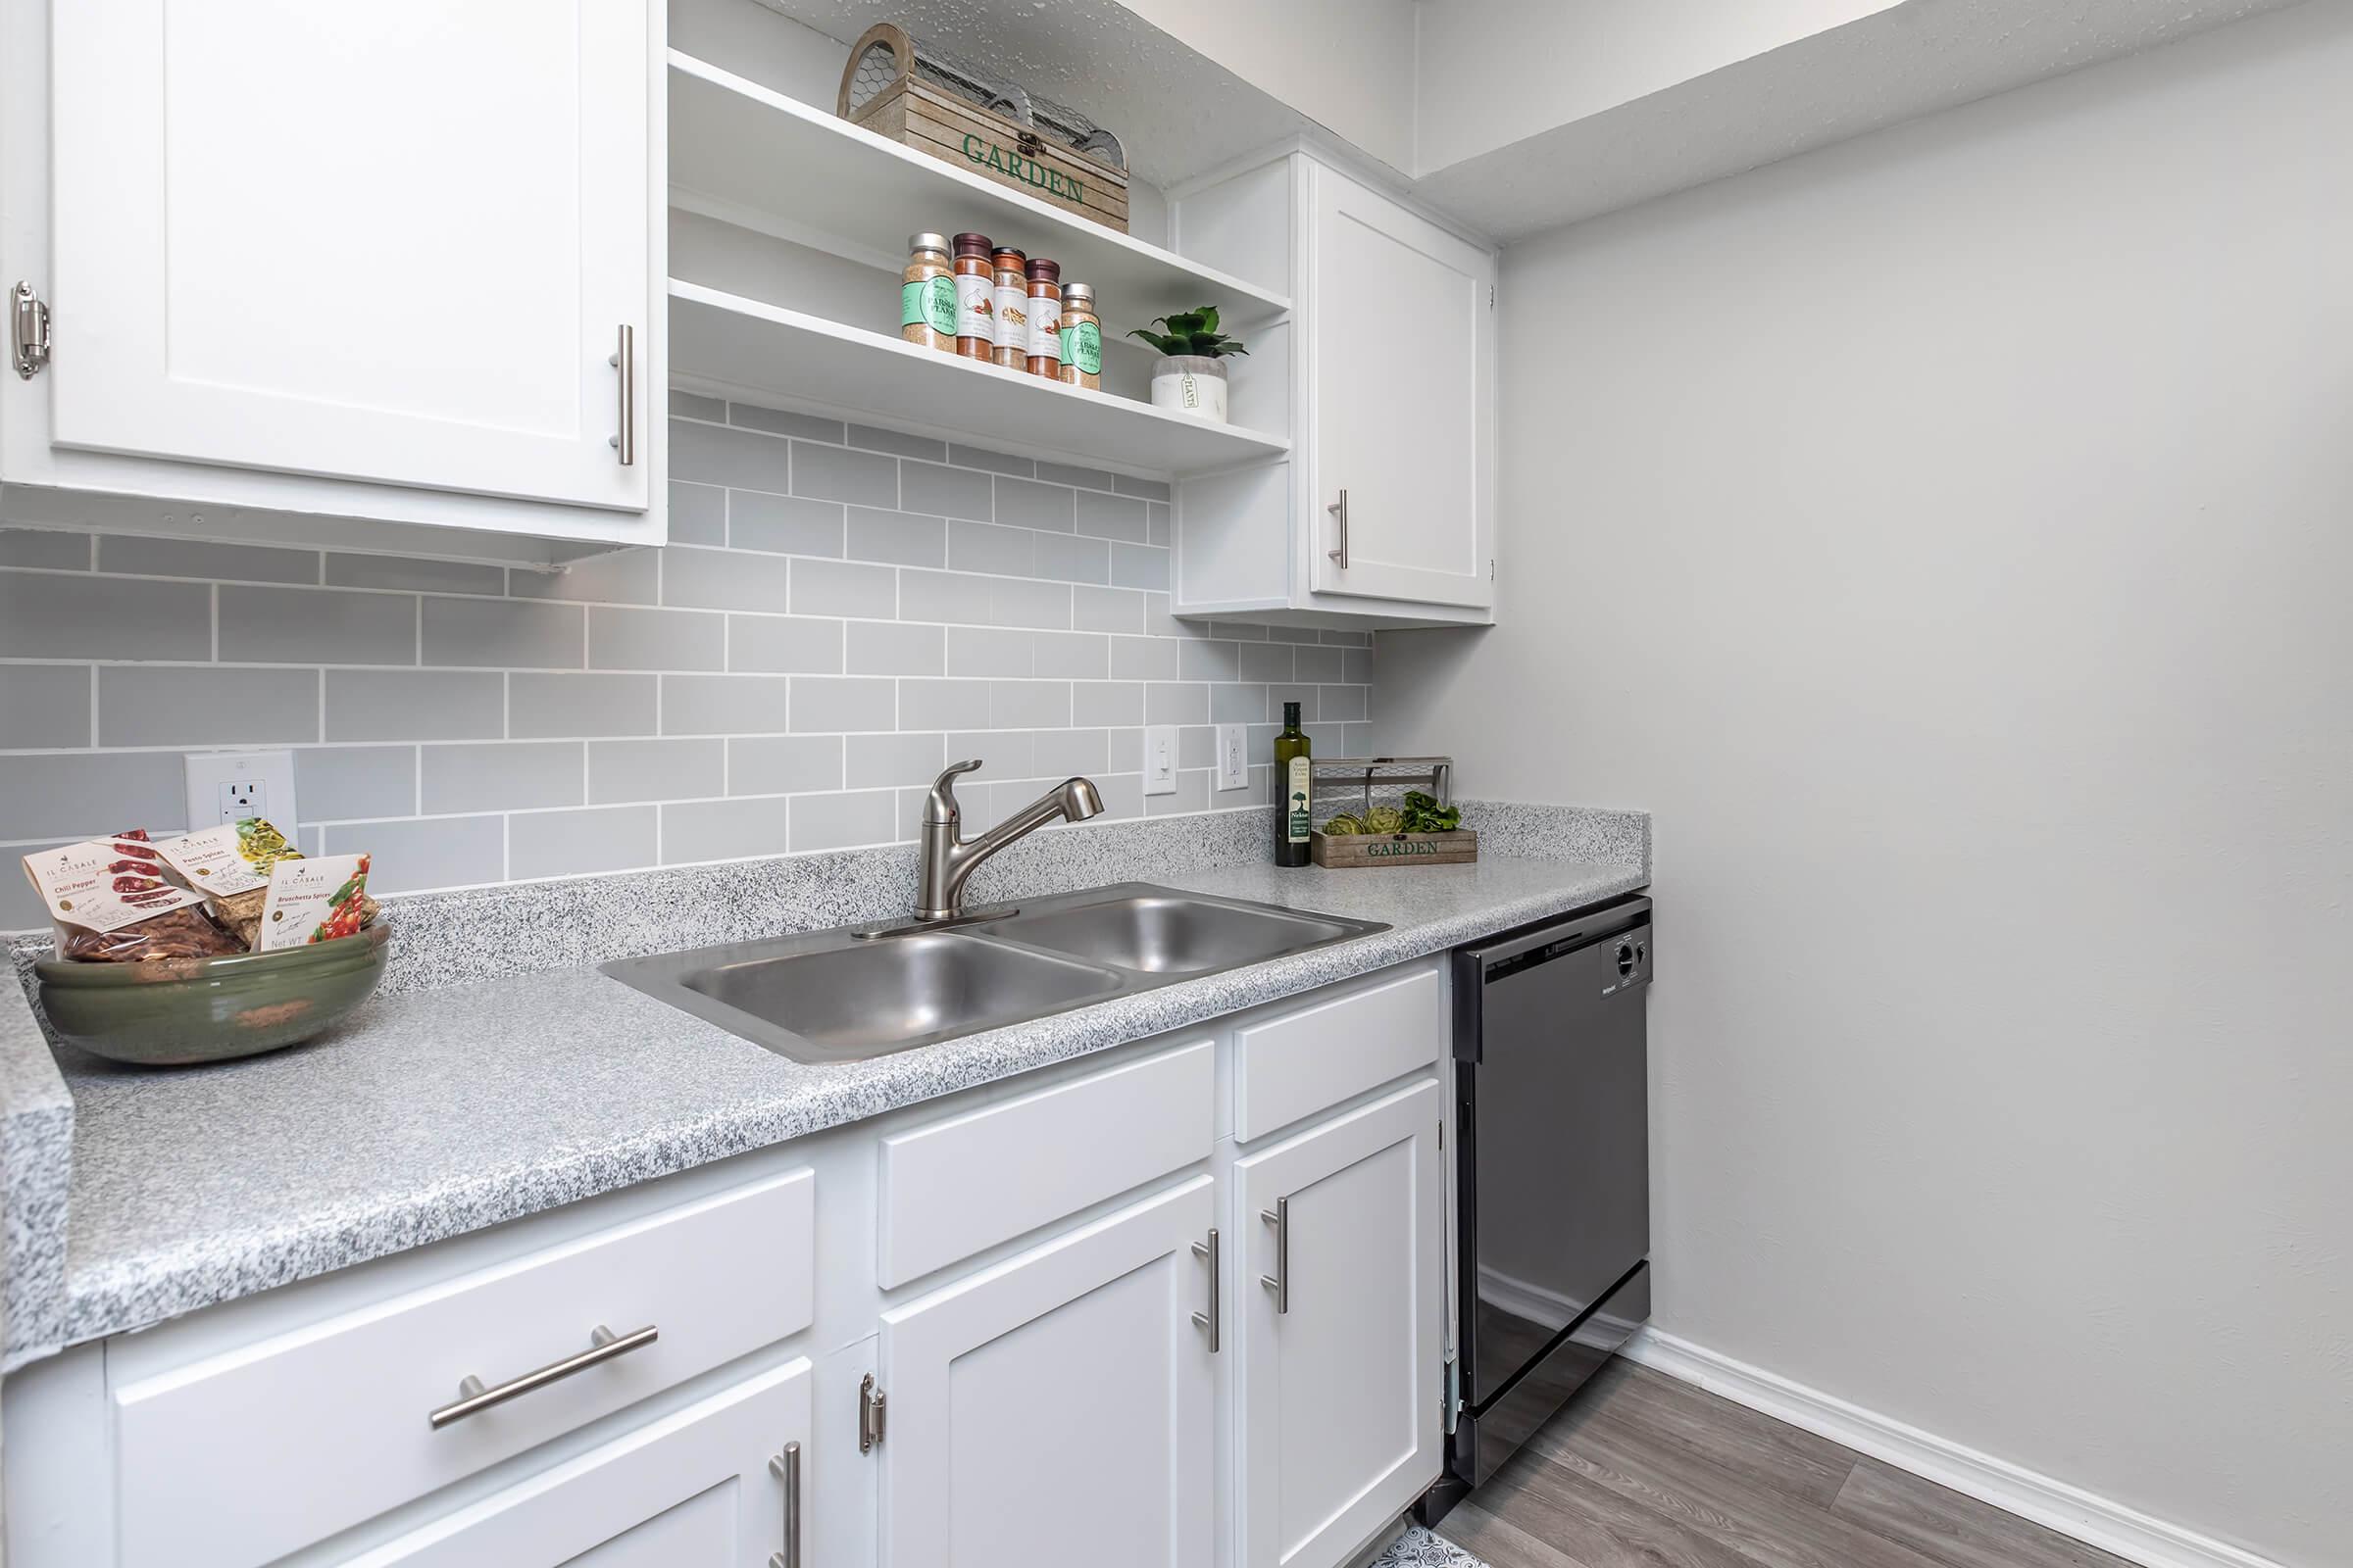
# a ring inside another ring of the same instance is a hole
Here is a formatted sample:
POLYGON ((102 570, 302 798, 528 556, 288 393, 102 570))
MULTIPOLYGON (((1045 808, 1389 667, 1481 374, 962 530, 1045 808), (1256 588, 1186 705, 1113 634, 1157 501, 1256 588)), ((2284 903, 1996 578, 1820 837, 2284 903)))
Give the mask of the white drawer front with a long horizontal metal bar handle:
POLYGON ((122 1568, 247 1568, 809 1326, 793 1171, 113 1387, 122 1568), (591 1349, 652 1342, 435 1429, 591 1349))

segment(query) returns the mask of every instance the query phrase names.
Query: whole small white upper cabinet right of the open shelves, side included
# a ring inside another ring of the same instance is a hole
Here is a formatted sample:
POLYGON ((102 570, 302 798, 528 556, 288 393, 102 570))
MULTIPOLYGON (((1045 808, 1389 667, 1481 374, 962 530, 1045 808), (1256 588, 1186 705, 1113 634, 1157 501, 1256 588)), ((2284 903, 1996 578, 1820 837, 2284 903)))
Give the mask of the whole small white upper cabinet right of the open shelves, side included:
POLYGON ((1282 458, 1176 496, 1181 616, 1480 625, 1494 616, 1494 252, 1308 153, 1184 193, 1179 240, 1294 310, 1233 362, 1282 458))

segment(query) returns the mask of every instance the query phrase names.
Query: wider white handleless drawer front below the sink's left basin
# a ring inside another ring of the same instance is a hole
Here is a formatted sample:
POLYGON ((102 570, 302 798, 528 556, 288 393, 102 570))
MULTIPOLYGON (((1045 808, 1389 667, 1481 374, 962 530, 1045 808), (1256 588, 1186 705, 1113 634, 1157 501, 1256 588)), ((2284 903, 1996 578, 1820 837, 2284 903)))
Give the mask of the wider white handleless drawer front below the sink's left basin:
POLYGON ((875 1274, 904 1286, 1209 1154, 1207 1039, 882 1140, 875 1274), (1115 1133, 1115 1135, 1106 1135, 1115 1133))

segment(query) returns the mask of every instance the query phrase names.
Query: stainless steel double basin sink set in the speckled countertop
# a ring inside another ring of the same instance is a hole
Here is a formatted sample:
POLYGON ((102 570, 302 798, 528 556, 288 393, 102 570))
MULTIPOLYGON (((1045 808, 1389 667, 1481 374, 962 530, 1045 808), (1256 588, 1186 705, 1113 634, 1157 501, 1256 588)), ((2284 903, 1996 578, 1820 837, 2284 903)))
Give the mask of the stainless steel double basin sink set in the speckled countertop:
POLYGON ((1127 882, 944 926, 852 926, 605 964, 798 1063, 854 1063, 1388 926, 1127 882))

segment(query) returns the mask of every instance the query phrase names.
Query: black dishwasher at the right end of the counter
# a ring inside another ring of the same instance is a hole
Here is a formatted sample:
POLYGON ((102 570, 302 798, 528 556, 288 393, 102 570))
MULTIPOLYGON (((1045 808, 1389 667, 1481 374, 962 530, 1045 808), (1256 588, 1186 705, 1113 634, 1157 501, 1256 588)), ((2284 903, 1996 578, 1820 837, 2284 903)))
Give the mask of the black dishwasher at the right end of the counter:
POLYGON ((1461 1302, 1435 1521, 1649 1316, 1649 898, 1454 952, 1461 1302))

